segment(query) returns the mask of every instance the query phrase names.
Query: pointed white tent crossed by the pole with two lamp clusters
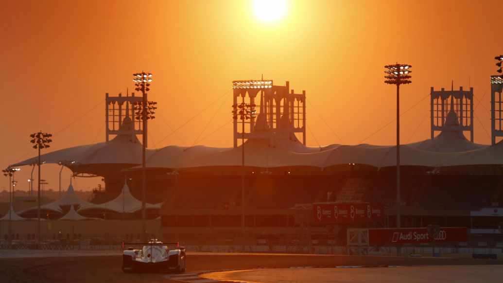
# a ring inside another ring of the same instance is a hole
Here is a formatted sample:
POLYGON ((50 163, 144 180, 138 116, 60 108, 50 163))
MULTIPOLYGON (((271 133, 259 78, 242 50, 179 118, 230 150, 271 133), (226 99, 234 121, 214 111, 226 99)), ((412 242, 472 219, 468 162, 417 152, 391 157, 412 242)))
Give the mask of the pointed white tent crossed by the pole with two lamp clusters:
MULTIPOLYGON (((162 203, 151 204, 146 203, 146 208, 160 208, 162 203)), ((95 204, 93 207, 89 208, 103 208, 107 210, 116 211, 118 213, 134 213, 141 209, 141 201, 136 199, 131 192, 127 184, 122 187, 122 192, 116 198, 101 204, 95 204)))

